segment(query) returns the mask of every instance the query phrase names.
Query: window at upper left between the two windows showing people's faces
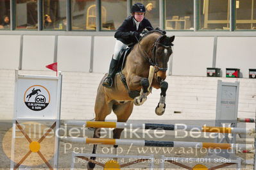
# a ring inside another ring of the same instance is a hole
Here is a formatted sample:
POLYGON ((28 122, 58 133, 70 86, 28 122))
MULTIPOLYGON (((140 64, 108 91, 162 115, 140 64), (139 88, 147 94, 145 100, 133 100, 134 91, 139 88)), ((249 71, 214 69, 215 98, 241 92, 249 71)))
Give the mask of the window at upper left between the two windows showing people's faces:
POLYGON ((37 29, 37 0, 16 0, 16 29, 37 29))

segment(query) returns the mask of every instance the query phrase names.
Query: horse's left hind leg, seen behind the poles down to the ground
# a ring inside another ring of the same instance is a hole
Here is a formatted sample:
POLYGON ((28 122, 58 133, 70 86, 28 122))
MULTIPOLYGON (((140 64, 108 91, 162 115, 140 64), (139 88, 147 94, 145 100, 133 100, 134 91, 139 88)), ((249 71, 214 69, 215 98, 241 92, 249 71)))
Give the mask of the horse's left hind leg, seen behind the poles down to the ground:
MULTIPOLYGON (((107 103, 107 101, 105 100, 105 94, 101 93, 101 91, 98 91, 94 111, 96 114, 95 121, 105 121, 105 118, 107 117, 107 115, 110 114, 112 111, 112 104, 107 103)), ((94 138, 100 137, 100 135, 101 135, 100 130, 101 130, 101 128, 94 129, 94 135, 93 135, 94 138)), ((94 144, 92 153, 96 153, 96 150, 97 150, 97 144, 94 144)), ((90 159, 96 160, 96 157, 90 157, 90 159)), ((92 162, 89 162, 87 164, 88 169, 94 169, 94 167, 95 167, 95 164, 92 162)))

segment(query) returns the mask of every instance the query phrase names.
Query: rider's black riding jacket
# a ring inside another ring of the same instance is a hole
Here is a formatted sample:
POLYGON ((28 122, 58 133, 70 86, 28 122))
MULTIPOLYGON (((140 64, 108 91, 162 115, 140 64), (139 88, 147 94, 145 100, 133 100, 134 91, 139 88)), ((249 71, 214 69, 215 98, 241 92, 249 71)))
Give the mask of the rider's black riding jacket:
POLYGON ((134 36, 130 36, 130 31, 141 33, 146 27, 149 31, 153 29, 148 19, 144 18, 139 24, 139 28, 137 30, 135 21, 133 20, 133 17, 130 16, 125 19, 123 24, 117 29, 117 31, 115 31, 115 38, 126 45, 137 43, 137 39, 134 36))

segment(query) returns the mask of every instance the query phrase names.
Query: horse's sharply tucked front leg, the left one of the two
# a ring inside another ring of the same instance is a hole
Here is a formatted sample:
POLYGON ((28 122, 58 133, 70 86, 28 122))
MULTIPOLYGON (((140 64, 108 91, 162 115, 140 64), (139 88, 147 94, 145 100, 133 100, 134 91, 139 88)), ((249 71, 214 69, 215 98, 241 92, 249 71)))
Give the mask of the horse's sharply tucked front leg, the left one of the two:
POLYGON ((147 78, 141 79, 141 95, 139 97, 135 97, 133 100, 133 103, 135 105, 142 105, 147 100, 147 94, 148 94, 148 87, 149 87, 149 81, 147 78))

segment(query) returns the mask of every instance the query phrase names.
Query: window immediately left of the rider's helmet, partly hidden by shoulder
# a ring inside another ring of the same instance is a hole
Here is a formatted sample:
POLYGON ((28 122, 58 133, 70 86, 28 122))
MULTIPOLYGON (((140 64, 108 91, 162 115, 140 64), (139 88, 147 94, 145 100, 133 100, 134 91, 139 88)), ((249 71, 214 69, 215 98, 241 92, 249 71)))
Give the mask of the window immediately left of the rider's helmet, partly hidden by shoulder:
POLYGON ((126 0, 101 1, 101 29, 115 30, 127 17, 126 0))

